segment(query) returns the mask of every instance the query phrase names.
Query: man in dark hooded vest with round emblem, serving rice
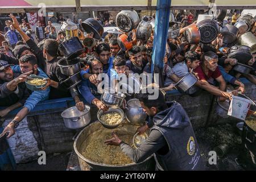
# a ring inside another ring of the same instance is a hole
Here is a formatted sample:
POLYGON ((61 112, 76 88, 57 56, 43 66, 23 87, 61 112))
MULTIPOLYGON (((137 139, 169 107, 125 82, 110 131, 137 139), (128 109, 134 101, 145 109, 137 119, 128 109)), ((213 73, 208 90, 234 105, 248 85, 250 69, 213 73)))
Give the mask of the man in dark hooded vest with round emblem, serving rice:
POLYGON ((112 133, 113 138, 105 143, 120 146, 122 152, 135 163, 155 154, 159 170, 203 170, 199 145, 183 107, 176 101, 166 103, 162 92, 159 92, 158 98, 150 98, 152 95, 139 93, 135 96, 150 117, 149 122, 137 130, 143 134, 151 128, 145 142, 135 149, 112 133))

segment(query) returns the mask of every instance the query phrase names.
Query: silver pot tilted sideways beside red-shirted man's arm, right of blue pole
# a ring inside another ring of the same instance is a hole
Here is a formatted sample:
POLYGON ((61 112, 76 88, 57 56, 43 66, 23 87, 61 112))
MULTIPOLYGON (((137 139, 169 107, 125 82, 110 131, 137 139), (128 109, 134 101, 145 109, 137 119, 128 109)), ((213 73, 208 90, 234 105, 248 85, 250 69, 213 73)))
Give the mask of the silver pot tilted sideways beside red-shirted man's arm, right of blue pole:
POLYGON ((175 84, 175 88, 180 92, 187 92, 197 82, 197 78, 192 73, 187 73, 180 81, 175 84))

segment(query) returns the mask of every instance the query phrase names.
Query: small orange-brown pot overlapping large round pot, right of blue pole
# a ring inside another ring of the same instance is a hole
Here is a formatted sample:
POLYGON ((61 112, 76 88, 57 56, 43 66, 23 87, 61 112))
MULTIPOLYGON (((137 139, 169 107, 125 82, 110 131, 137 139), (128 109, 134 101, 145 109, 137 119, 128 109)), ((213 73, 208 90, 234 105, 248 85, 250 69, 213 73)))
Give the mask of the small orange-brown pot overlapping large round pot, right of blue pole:
POLYGON ((184 32, 184 36, 189 44, 200 43, 200 31, 196 26, 188 27, 184 32))

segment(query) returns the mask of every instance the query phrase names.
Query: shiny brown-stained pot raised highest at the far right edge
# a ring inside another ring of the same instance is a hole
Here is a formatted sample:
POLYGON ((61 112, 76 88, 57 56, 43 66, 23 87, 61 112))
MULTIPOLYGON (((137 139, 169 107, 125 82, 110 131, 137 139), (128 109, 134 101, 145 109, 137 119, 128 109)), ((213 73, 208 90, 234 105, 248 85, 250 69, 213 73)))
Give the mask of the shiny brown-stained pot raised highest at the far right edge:
POLYGON ((248 32, 251 30, 251 27, 253 26, 255 20, 253 16, 246 14, 242 15, 237 19, 237 22, 234 24, 239 29, 240 34, 245 34, 245 32, 248 32))

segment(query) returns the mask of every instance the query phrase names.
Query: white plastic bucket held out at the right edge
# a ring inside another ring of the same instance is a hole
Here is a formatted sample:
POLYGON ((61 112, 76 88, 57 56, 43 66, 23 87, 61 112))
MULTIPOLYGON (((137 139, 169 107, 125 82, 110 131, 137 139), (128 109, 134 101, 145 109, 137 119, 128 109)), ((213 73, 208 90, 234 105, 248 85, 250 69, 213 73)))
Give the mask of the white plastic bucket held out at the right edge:
POLYGON ((233 96, 229 106, 228 115, 245 121, 245 117, 251 104, 252 102, 246 98, 233 96))

